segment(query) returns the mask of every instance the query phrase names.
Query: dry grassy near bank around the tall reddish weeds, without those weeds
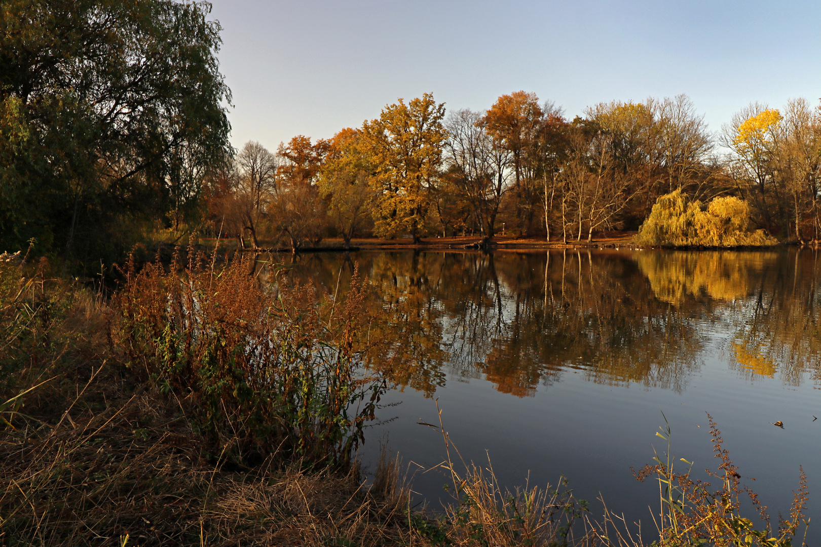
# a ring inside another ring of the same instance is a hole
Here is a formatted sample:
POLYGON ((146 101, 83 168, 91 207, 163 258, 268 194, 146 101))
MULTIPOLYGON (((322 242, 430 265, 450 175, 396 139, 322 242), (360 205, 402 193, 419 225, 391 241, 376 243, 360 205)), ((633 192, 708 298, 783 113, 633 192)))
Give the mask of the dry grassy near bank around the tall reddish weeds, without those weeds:
MULTIPOLYGON (((133 328, 122 323, 125 304, 49 278, 43 261, 22 280, 19 266, 0 266, 2 545, 424 547, 528 536, 539 540, 530 545, 547 545, 567 537, 561 525, 569 496, 539 490, 539 503, 531 497, 525 509, 521 495, 494 487, 480 469, 466 470, 456 490, 456 500, 463 491, 475 499, 433 518, 410 506, 410 484, 387 450, 369 470, 356 458, 322 460, 296 446, 289 452, 287 438, 258 450, 263 458, 242 452, 236 443, 249 410, 225 406, 230 395, 221 408, 239 431, 214 439, 170 368, 146 374, 154 366, 130 358, 146 353, 122 332, 133 328)), ((231 275, 223 271, 221 279, 231 275)), ((131 297, 148 304, 149 289, 140 285, 131 297)), ((131 298, 127 285, 122 290, 131 298)), ((222 382, 230 374, 218 370, 222 382)), ((282 406, 273 413, 268 440, 294 419, 282 406)), ((309 428, 300 433, 308 446, 321 431, 309 428)))

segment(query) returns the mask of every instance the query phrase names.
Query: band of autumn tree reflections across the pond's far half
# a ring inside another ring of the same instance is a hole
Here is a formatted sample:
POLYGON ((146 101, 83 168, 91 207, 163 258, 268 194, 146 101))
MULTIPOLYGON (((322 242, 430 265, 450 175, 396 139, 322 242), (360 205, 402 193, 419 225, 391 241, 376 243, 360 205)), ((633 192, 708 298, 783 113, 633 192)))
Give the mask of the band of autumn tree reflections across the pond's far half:
POLYGON ((484 377, 532 396, 568 371, 681 392, 716 332, 741 378, 821 380, 813 251, 306 255, 290 275, 344 294, 353 262, 378 309, 374 366, 427 396, 484 377), (725 336, 722 334, 722 336, 725 336))

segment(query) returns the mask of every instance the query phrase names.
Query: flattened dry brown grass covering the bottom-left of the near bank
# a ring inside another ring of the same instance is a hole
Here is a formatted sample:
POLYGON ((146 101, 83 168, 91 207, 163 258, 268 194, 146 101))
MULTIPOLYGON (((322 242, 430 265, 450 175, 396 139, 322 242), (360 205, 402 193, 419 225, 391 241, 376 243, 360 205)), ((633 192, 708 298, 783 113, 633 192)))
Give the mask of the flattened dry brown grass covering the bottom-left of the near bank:
POLYGON ((185 420, 158 403, 137 391, 102 412, 75 408, 53 426, 7 435, 2 545, 122 545, 126 536, 129 545, 384 545, 410 536, 406 498, 384 482, 367 487, 359 467, 215 466, 185 420))

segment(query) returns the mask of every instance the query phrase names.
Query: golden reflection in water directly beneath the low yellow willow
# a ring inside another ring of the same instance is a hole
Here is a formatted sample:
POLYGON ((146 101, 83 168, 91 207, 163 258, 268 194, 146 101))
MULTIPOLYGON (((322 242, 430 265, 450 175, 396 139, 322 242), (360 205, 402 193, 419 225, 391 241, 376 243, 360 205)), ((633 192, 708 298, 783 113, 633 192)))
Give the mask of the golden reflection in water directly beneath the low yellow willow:
POLYGON ((750 294, 765 266, 777 253, 733 251, 639 253, 635 262, 650 281, 656 298, 681 305, 686 298, 706 294, 732 300, 750 294))

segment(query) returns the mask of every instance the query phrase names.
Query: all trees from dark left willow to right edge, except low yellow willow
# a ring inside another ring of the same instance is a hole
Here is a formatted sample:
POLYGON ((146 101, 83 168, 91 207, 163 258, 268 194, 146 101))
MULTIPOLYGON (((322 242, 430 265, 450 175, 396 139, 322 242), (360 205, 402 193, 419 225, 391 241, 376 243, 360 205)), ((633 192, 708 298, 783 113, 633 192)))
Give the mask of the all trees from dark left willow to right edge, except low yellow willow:
POLYGON ((752 104, 714 135, 685 95, 570 120, 524 91, 480 112, 426 93, 331 139, 236 151, 207 3, 0 7, 0 250, 33 243, 82 267, 195 231, 294 249, 354 235, 590 239, 637 230, 674 191, 741 198, 750 228, 782 240, 819 237, 821 124, 804 99, 752 104))

